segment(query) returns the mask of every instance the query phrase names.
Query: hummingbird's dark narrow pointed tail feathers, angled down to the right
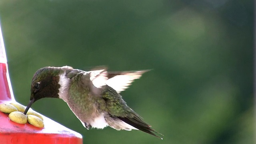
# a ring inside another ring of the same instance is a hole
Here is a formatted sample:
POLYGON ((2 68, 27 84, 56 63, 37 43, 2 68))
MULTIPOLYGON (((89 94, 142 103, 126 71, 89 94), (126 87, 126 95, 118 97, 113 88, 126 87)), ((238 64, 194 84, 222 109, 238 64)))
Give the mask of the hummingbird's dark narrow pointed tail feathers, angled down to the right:
MULTIPOLYGON (((133 117, 133 118, 128 118, 128 117, 118 117, 120 120, 122 120, 123 122, 125 122, 126 124, 129 124, 131 126, 133 126, 134 128, 137 128, 138 130, 141 130, 143 132, 146 132, 148 134, 151 134, 153 136, 156 136, 160 139, 160 136, 157 136, 155 133, 160 134, 159 132, 156 132, 154 129, 151 128, 150 125, 148 125, 147 123, 143 122, 139 117, 133 117)), ((160 134, 162 135, 162 134, 160 134)), ((162 135, 164 136, 164 135, 162 135)))

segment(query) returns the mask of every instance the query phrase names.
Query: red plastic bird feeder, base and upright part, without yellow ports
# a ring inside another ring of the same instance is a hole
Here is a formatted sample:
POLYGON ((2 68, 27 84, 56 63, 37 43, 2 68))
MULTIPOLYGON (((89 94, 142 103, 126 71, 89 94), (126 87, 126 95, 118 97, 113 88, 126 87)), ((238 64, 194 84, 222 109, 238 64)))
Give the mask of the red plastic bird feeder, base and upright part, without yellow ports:
MULTIPOLYGON (((0 28, 0 104, 15 102, 0 28)), ((81 134, 44 116, 44 128, 18 124, 0 112, 0 144, 82 144, 81 134)))

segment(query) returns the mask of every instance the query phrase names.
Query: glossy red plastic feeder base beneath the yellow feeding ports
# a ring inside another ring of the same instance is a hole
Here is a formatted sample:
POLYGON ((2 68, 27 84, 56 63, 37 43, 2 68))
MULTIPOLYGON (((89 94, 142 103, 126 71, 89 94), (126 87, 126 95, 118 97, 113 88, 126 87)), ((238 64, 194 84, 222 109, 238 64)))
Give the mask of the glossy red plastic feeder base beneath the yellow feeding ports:
POLYGON ((0 144, 82 144, 82 136, 57 122, 44 118, 44 128, 17 124, 0 112, 0 144))

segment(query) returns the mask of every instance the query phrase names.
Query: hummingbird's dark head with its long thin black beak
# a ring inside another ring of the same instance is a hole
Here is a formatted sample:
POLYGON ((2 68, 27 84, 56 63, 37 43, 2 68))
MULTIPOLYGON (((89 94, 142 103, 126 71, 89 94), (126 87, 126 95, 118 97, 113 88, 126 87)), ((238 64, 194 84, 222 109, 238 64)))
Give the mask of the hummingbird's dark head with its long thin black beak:
POLYGON ((41 98, 59 98, 59 80, 62 68, 44 67, 36 71, 32 78, 30 89, 30 102, 24 114, 28 112, 30 106, 41 98))

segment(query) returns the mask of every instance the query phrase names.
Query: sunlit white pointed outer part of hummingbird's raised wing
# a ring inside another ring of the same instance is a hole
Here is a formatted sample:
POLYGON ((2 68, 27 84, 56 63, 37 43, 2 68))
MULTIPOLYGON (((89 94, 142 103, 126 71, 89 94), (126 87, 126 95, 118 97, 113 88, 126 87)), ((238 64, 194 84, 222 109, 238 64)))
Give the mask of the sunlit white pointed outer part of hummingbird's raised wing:
POLYGON ((135 79, 140 78, 142 74, 148 71, 149 70, 108 72, 108 80, 106 81, 106 84, 114 88, 116 92, 120 93, 128 88, 135 79))

